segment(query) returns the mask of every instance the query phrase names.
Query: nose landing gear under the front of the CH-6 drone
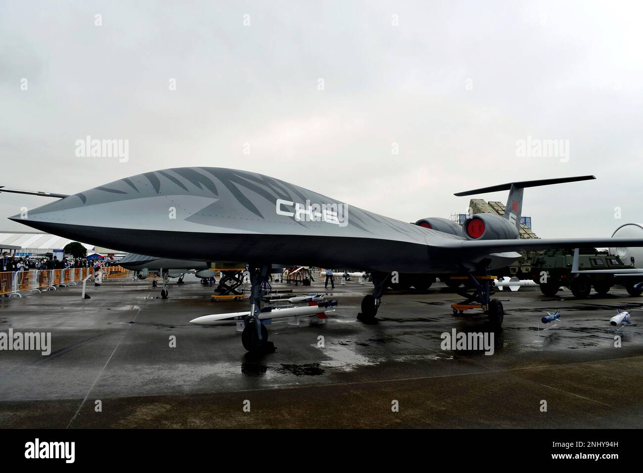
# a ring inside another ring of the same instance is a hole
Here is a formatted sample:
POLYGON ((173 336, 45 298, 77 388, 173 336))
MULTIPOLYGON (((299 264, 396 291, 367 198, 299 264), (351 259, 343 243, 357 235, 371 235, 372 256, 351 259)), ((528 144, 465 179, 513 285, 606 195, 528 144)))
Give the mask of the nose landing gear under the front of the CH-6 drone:
POLYGON ((250 353, 271 353, 275 345, 268 342, 268 331, 259 319, 261 300, 268 285, 270 264, 261 266, 248 265, 250 273, 250 313, 244 320, 241 343, 250 353))

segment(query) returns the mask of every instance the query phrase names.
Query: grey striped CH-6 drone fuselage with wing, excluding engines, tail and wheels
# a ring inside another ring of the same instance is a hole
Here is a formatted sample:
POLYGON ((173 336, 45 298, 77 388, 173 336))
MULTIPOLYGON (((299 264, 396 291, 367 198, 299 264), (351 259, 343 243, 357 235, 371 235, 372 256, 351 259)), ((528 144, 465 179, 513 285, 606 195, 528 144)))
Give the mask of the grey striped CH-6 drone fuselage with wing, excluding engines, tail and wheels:
POLYGON ((255 172, 180 167, 145 172, 13 220, 77 241, 195 261, 296 261, 370 271, 449 273, 506 266, 517 250, 643 246, 641 239, 467 240, 352 207, 255 172), (311 219, 310 216, 313 216, 311 219))

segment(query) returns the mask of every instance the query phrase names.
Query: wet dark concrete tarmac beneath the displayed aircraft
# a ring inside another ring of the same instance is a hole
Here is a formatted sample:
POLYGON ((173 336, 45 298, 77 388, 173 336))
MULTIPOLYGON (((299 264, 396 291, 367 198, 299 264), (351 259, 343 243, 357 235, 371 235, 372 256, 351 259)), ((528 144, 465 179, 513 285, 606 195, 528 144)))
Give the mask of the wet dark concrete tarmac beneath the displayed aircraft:
MULTIPOLYGON (((320 283, 273 287, 323 292, 320 283)), ((443 284, 387 293, 378 322, 364 324, 356 315, 370 289, 338 284, 340 306, 325 324, 272 324, 276 351, 261 357, 246 353, 233 326, 188 323, 248 302, 212 302, 209 288, 187 278, 166 300, 150 281, 125 279, 91 286, 87 300, 80 286, 1 297, 0 331, 51 332, 52 349, 0 351, 0 426, 643 426, 643 297, 619 286, 584 301, 568 291, 498 292, 503 330, 485 355, 440 348, 452 329, 491 331, 484 316, 453 317, 449 305, 462 298, 443 284), (635 325, 615 332, 617 308, 635 325), (557 328, 541 331, 556 309, 557 328)))

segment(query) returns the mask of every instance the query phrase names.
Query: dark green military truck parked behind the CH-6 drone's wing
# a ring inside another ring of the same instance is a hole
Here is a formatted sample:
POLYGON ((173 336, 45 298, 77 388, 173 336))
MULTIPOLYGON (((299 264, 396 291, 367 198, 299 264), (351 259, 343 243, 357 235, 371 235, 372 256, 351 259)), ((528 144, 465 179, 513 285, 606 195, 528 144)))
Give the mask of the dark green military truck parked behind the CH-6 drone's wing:
POLYGON ((553 297, 561 286, 569 288, 578 299, 586 299, 592 287, 595 292, 604 295, 610 292, 614 284, 623 284, 629 295, 638 296, 643 288, 635 288, 635 284, 643 281, 643 277, 627 277, 616 279, 613 274, 582 274, 583 270, 623 270, 633 269, 634 265, 626 264, 618 256, 597 252, 595 248, 580 248, 579 274, 572 274, 573 252, 568 250, 547 250, 536 256, 531 262, 531 278, 540 286, 544 295, 553 297), (617 282, 618 281, 618 282, 617 282))

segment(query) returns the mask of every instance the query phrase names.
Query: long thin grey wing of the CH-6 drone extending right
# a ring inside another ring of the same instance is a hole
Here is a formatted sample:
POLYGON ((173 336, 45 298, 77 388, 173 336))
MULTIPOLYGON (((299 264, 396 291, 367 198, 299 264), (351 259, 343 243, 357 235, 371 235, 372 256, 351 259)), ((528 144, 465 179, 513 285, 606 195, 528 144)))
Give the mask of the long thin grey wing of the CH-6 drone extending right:
POLYGON ((460 240, 440 239, 431 241, 435 250, 457 250, 471 254, 489 254, 509 251, 538 251, 555 248, 619 248, 643 246, 640 238, 534 238, 511 240, 460 240))

